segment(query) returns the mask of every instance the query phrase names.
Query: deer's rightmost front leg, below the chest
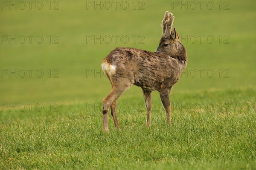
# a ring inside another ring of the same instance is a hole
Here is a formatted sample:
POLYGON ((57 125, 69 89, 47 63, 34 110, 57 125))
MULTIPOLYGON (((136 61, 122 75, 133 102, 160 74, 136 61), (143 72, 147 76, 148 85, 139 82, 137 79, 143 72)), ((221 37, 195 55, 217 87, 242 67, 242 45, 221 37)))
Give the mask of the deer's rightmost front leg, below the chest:
POLYGON ((170 92, 171 92, 170 89, 163 89, 163 90, 159 91, 163 107, 166 111, 167 125, 170 125, 170 123, 171 123, 170 92))

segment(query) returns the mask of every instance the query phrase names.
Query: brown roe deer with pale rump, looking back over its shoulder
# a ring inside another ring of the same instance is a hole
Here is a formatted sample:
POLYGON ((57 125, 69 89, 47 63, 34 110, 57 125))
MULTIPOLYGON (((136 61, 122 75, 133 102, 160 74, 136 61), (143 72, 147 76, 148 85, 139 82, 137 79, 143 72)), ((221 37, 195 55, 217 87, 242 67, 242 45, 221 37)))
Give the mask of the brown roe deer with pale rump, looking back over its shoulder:
POLYGON ((147 108, 146 127, 150 126, 151 91, 159 91, 166 111, 167 124, 170 124, 170 93, 187 64, 186 48, 172 27, 173 20, 173 14, 166 11, 161 24, 163 34, 154 53, 136 48, 116 48, 103 60, 102 70, 112 85, 111 92, 102 102, 103 130, 108 131, 109 107, 115 127, 119 128, 116 115, 117 100, 133 84, 143 90, 147 108))

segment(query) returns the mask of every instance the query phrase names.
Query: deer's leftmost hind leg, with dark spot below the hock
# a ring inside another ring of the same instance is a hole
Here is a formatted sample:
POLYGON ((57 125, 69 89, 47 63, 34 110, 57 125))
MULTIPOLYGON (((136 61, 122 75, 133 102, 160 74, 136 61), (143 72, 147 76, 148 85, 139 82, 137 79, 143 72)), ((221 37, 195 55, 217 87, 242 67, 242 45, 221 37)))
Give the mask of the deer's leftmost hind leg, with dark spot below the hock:
MULTIPOLYGON (((131 84, 132 85, 132 84, 131 84)), ((116 85, 113 86, 111 92, 106 96, 102 101, 102 113, 103 113, 103 130, 108 131, 108 109, 112 105, 114 101, 116 101, 119 96, 121 96, 128 88, 129 86, 123 86, 123 85, 116 85)), ((117 120, 117 117, 116 117, 117 120)), ((115 121, 115 119, 114 119, 115 121)))

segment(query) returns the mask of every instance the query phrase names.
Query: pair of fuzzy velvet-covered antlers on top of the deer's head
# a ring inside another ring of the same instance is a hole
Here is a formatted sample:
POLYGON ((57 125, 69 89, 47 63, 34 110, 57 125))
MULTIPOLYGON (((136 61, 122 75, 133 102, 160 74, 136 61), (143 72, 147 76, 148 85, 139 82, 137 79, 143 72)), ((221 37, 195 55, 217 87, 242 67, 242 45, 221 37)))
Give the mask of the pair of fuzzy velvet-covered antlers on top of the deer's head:
POLYGON ((163 38, 170 38, 173 21, 174 21, 174 15, 171 12, 166 11, 165 16, 163 18, 163 23, 162 23, 163 38))

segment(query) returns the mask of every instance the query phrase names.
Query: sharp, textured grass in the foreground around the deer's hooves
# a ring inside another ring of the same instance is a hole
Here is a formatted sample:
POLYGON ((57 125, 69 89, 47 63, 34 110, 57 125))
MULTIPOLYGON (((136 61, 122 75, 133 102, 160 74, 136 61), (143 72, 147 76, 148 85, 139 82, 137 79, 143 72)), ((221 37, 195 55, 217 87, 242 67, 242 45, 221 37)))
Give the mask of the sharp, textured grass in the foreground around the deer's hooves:
POLYGON ((138 106, 143 99, 134 99, 127 103, 129 108, 118 110, 121 130, 115 130, 110 119, 110 133, 102 132, 101 111, 96 107, 84 111, 86 103, 61 105, 57 113, 6 111, 1 121, 0 167, 255 169, 253 92, 248 88, 201 96, 173 95, 172 101, 179 105, 186 106, 193 99, 194 103, 209 101, 205 105, 214 108, 175 108, 169 127, 163 108, 154 101, 149 129, 145 127, 146 113, 138 107, 134 110, 133 102, 138 106), (237 96, 239 93, 247 97, 237 96))

